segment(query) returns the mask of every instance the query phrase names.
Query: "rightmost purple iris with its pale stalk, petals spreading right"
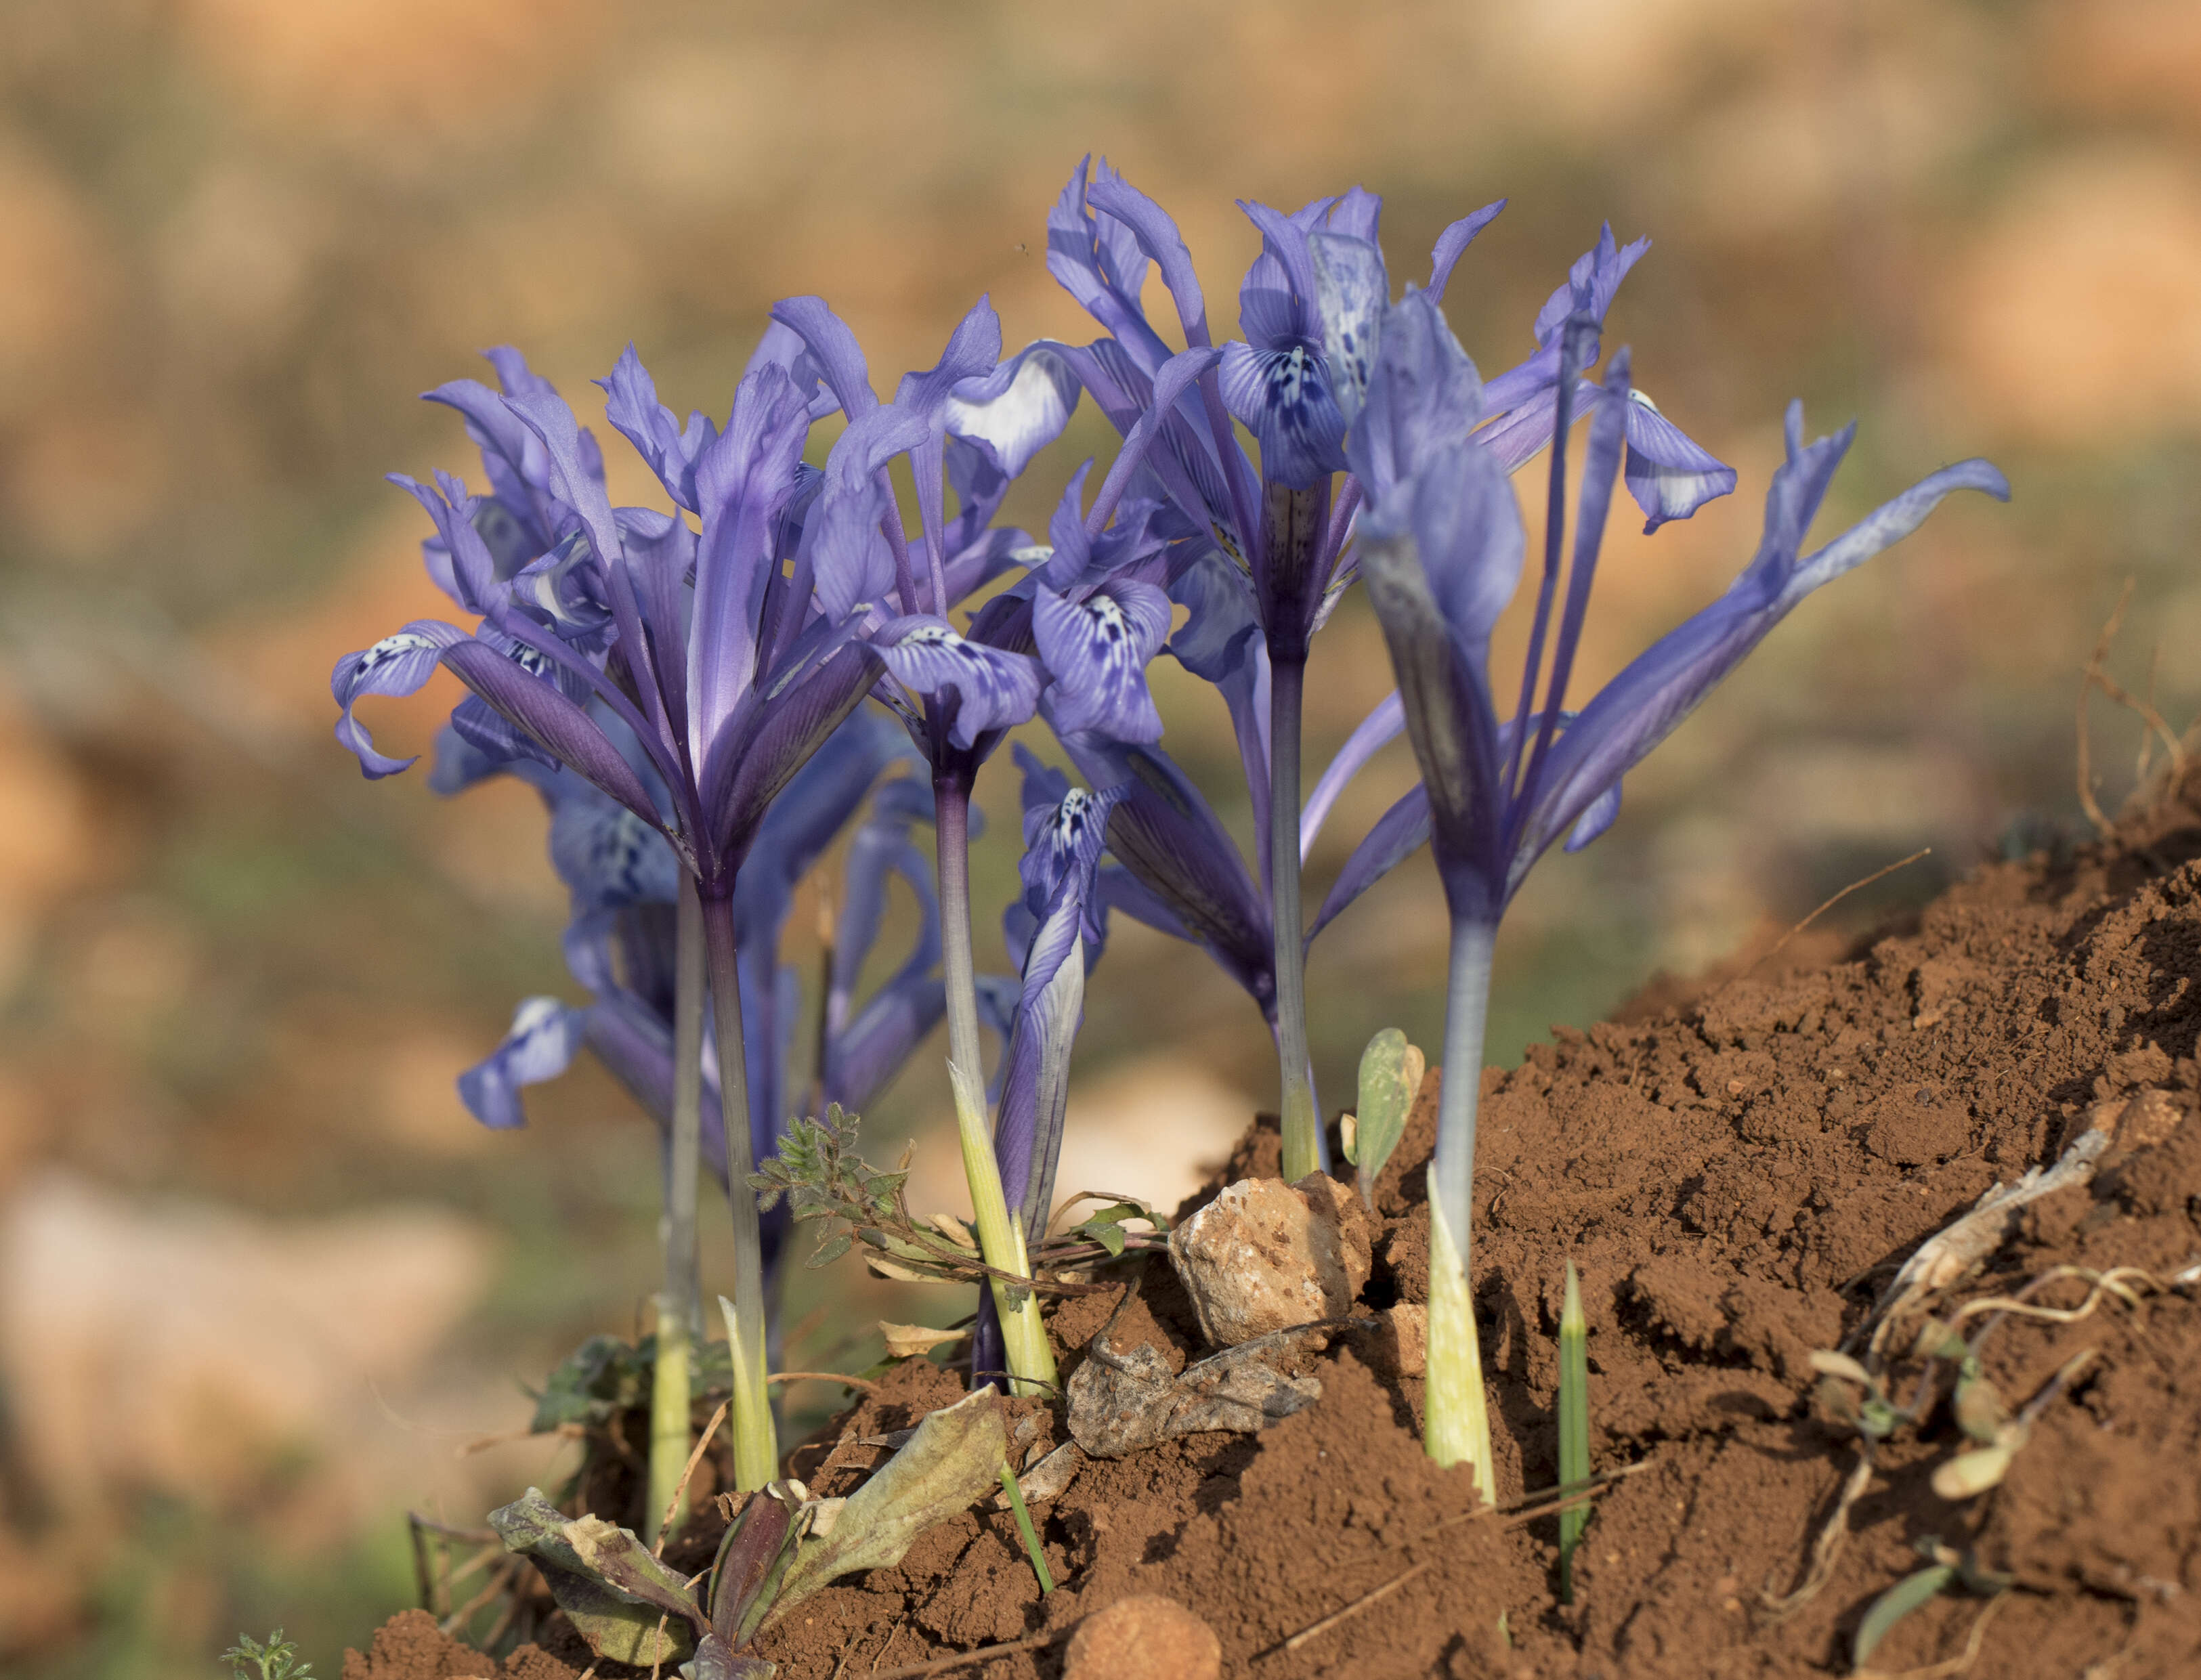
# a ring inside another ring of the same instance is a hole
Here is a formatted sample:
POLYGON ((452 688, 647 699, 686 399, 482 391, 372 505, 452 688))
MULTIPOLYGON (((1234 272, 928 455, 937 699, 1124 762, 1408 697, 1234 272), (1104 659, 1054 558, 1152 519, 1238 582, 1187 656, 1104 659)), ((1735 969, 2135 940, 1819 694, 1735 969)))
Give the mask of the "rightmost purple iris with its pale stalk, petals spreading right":
POLYGON ((1431 1165, 1428 1444, 1442 1462, 1488 1453, 1479 1372, 1472 1381, 1468 1374, 1472 1319, 1464 1279, 1490 951, 1505 905, 1554 843, 1585 846, 1611 823, 1620 777, 1811 590, 1906 537, 1954 489, 2010 493, 1992 465, 1965 460, 1805 553, 1805 533, 1853 427, 1805 445, 1803 405, 1792 405, 1787 462, 1765 498, 1756 557, 1723 597, 1653 643, 1580 711, 1567 713, 1561 702, 1613 480, 1640 407, 1631 396, 1629 354, 1620 350, 1602 383, 1587 388, 1589 443, 1567 557, 1565 447, 1574 403, 1585 394, 1578 370, 1596 346, 1594 286, 1578 282, 1574 302, 1576 310, 1558 330, 1552 515, 1512 724, 1501 722, 1490 685, 1490 632, 1521 581, 1521 511, 1501 458, 1461 436, 1461 416, 1472 423, 1483 412, 1488 385, 1477 381, 1431 295, 1409 293, 1387 310, 1367 403, 1347 438, 1347 454, 1369 491, 1362 572, 1398 672, 1400 718, 1422 766, 1422 788, 1402 806, 1409 817, 1413 801, 1420 806, 1417 821, 1428 826, 1453 918, 1444 1090, 1431 1165), (1442 1372, 1439 1341, 1446 1350, 1442 1372))

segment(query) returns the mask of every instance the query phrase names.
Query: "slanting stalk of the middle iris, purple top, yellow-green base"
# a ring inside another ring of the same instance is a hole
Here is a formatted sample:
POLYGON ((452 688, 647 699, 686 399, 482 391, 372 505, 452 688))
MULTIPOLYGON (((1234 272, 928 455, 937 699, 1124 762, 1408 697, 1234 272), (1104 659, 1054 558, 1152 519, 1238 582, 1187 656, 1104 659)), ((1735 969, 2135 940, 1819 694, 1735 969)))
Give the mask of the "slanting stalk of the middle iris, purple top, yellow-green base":
POLYGON ((933 834, 940 848, 940 969, 949 1004, 949 1088, 955 1094, 955 1138, 971 1187, 971 1226, 986 1264, 995 1273, 1010 1273, 986 1279, 1001 1319, 1008 1385, 1017 1394, 1048 1394, 1056 1387, 1054 1348, 1039 1317, 1039 1295, 1015 1281, 1032 1275, 1032 1262, 1023 1248, 1023 1226, 1008 1213, 1001 1163, 993 1152, 993 1123, 986 1119, 986 1063, 977 1048, 977 967, 971 956, 968 784, 953 773, 933 777, 933 834))

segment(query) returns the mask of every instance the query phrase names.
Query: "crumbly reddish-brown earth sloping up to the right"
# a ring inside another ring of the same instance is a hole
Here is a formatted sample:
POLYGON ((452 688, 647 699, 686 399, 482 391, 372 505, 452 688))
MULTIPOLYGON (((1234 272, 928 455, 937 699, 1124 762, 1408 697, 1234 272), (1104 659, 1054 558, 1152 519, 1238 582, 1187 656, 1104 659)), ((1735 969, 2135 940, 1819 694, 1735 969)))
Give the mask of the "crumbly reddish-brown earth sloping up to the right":
MULTIPOLYGON (((1886 1636, 1875 1669, 1970 1651, 1970 1673, 2010 1680, 2201 1673, 2190 1286, 2139 1284, 2137 1306, 2098 1299, 2084 1317, 2005 1317, 1981 1359, 2012 1405, 2073 1354, 2093 1361, 2047 1398, 2003 1486, 1961 1504, 1935 1495, 1932 1469, 1963 1444, 1937 1407, 1877 1453, 1825 1588, 1772 1607, 1807 1579, 1858 1464, 1855 1438, 1814 1398, 1811 1352, 1836 1348, 1904 1257, 1981 1191, 2054 1160, 2104 1099, 2159 1090, 2177 1114, 2168 1134, 2034 1202, 1943 1306, 2010 1295, 2056 1266, 2168 1279, 2201 1259, 2197 854, 2201 793, 2188 788, 2102 846, 1985 868, 1847 960, 1668 989, 1483 1077, 1472 1279, 1499 1497, 1556 1480, 1569 1259, 1589 1310, 1591 1460, 1635 1466, 1594 1506, 1572 1605, 1556 1603, 1556 1519, 1470 1517, 1464 1477, 1420 1453, 1422 1383, 1382 1383, 1340 1345, 1318 1367, 1323 1400, 1261 1436, 1087 1462, 1034 1510, 1061 1581, 1052 1599, 1010 1519, 973 1513, 924 1535, 900 1568, 806 1601, 764 1656, 788 1680, 854 1680, 1054 1629, 1063 1638, 1043 1649, 955 1673, 1056 1676, 1081 1614, 1167 1594, 1215 1629, 1224 1673, 1259 1680, 1785 1680, 1849 1673, 1871 1603, 1941 1543, 2014 1585, 1930 1601, 1886 1636), (1336 1612, 1349 1614, 1294 1640, 1336 1612)), ((1373 1187, 1369 1306, 1424 1292, 1435 1079, 1373 1187)), ((1274 1171, 1274 1132, 1257 1125, 1215 1182, 1274 1171)), ((1164 1262, 1129 1290, 1118 1345, 1153 1341, 1173 1365, 1197 1354, 1164 1262)), ((2087 1297, 2087 1279, 2067 1275, 2034 1303, 2087 1297)), ((1116 1306, 1112 1292, 1056 1310, 1065 1374, 1116 1306)), ((957 1392, 935 1365, 898 1367, 830 1431, 841 1444, 806 1449, 797 1473, 847 1491, 883 1458, 861 1438, 957 1392)), ((1054 1416, 1034 1422, 1037 1438, 1061 1438, 1054 1416)), ((550 1654, 497 1669, 423 1632, 392 1623, 346 1680, 559 1680, 559 1656, 588 1667, 555 1636, 550 1654)))

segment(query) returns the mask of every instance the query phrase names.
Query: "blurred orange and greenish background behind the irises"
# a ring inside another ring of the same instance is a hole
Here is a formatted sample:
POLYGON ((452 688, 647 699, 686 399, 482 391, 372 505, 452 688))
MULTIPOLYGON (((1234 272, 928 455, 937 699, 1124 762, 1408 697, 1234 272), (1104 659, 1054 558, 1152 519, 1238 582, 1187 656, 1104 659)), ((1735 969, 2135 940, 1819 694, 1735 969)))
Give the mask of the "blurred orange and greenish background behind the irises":
MULTIPOLYGON (((1510 194, 1450 293, 1497 370, 1611 218, 1657 244, 1609 343, 1743 487, 1616 528, 1583 694, 1748 561, 1789 396, 1814 432, 1862 423, 1822 531, 1994 456, 2010 509, 1950 504, 1814 599, 1605 841, 1545 863, 1501 947, 1505 1059, 1919 846, 1833 920, 2071 828, 2078 669, 2124 579, 2120 676, 2159 645, 2175 724, 2201 694, 2183 0, 7 0, 0 40, 4 1673, 216 1676, 282 1623, 332 1676, 409 1599, 401 1513, 475 1521, 555 1480, 541 1444, 458 1449, 649 1290, 654 1147, 616 1088, 577 1070, 517 1136, 451 1092, 519 995, 572 995, 533 795, 365 786, 328 733, 337 656, 442 610, 381 473, 478 478, 414 399, 484 346, 592 418, 629 339, 676 410, 724 412, 788 293, 823 293, 883 385, 979 293, 1010 343, 1083 341, 1043 216, 1096 150, 1178 216, 1224 321, 1257 249, 1233 198, 1365 183, 1406 280, 1510 194)), ((1012 513, 1043 522, 1112 447, 1085 405, 1012 513)), ((1156 685, 1222 795, 1222 707, 1167 661, 1156 685)), ((1387 687, 1354 601, 1316 652, 1314 764, 1387 687)), ((372 724, 416 749, 451 698, 372 724)), ((2098 718, 2109 804, 2135 744, 2098 718)), ((1409 779, 1393 749, 1356 784, 1310 892, 1409 779)), ((1006 766, 982 797, 999 905, 1006 766)), ((1332 1108, 1376 1028, 1435 1041, 1442 956, 1426 861, 1325 936, 1332 1108)), ((938 1123, 931 1066, 874 1116, 887 1154, 938 1123)), ((1118 925, 1063 1185, 1175 1196, 1272 1074, 1204 958, 1118 925)), ((883 1299, 803 1279, 790 1361, 867 1363, 850 1314, 883 1299)))

